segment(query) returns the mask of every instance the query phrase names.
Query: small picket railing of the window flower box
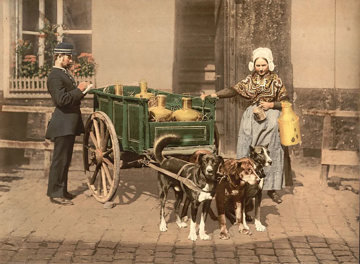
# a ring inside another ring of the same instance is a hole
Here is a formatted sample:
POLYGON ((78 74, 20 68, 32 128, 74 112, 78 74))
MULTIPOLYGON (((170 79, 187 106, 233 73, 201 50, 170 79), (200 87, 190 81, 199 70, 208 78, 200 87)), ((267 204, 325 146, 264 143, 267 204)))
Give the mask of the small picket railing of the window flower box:
MULTIPOLYGON (((46 86, 46 80, 48 78, 39 78, 39 77, 12 77, 10 78, 10 93, 41 93, 48 92, 48 88, 46 86)), ((95 85, 95 76, 91 77, 75 77, 77 84, 80 82, 86 81, 95 85)))

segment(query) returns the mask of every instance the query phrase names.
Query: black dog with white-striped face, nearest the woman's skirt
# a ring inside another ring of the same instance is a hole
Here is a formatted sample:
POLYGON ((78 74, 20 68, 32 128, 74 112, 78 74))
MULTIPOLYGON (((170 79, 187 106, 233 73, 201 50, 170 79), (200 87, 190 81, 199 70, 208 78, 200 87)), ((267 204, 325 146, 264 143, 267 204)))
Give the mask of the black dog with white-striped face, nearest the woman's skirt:
MULTIPOLYGON (((270 166, 273 161, 270 158, 270 151, 267 149, 269 144, 266 145, 257 145, 255 147, 250 146, 250 155, 249 157, 255 161, 257 175, 260 177, 260 183, 258 185, 250 185, 247 184, 244 190, 244 206, 245 206, 245 218, 247 222, 252 221, 252 217, 248 214, 254 209, 255 203, 255 228, 256 231, 264 232, 266 231, 266 227, 261 224, 260 222, 260 205, 261 205, 261 198, 262 198, 262 187, 264 185, 264 167, 270 166)), ((211 209, 210 209, 211 210, 211 209)), ((230 222, 234 225, 237 224, 235 218, 235 209, 234 209, 234 201, 229 199, 229 202, 225 208, 225 215, 226 218, 230 220, 230 222)), ((211 219, 216 221, 217 217, 215 214, 210 211, 211 219)))

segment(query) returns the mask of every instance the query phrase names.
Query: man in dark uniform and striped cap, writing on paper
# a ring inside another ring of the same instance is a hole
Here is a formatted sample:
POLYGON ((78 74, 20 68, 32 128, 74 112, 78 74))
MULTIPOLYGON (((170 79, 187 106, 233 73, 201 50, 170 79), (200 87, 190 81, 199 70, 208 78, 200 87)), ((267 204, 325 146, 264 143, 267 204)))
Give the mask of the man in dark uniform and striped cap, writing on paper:
POLYGON ((73 205, 75 194, 68 193, 67 179, 71 162, 75 136, 84 133, 80 103, 88 83, 76 85, 75 79, 68 72, 72 63, 73 44, 60 42, 54 49, 55 65, 51 70, 46 85, 54 101, 55 110, 48 123, 45 138, 54 142, 51 161, 48 192, 52 203, 73 205))

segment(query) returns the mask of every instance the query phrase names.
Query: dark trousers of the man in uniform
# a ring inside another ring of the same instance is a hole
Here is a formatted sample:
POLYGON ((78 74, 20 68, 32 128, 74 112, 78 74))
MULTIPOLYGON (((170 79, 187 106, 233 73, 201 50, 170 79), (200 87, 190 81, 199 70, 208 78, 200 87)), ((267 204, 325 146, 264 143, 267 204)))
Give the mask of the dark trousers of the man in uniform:
POLYGON ((75 135, 55 138, 53 160, 50 165, 48 192, 49 197, 64 197, 67 193, 67 178, 75 143, 75 135))

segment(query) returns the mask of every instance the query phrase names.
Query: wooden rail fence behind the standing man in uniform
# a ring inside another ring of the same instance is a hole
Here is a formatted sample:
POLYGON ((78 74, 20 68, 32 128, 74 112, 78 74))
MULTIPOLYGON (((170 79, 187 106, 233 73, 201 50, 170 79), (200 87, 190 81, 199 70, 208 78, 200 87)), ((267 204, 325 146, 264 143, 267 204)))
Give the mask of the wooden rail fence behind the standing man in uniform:
MULTIPOLYGON (((47 129, 48 121, 54 112, 54 107, 47 106, 11 106, 3 105, 2 112, 19 112, 19 113, 45 113, 45 127, 47 129)), ((92 114, 93 108, 81 108, 82 114, 92 114)), ((44 132, 45 135, 45 132, 44 132)), ((29 148, 29 149, 43 149, 44 150, 44 176, 49 175, 50 163, 51 163, 51 150, 54 149, 54 143, 50 140, 45 141, 20 141, 20 140, 5 140, 0 139, 0 148, 29 148)), ((75 144, 74 151, 82 151, 82 144, 75 144)))

